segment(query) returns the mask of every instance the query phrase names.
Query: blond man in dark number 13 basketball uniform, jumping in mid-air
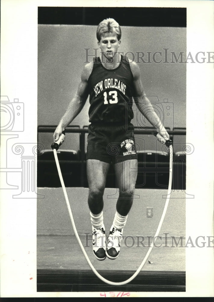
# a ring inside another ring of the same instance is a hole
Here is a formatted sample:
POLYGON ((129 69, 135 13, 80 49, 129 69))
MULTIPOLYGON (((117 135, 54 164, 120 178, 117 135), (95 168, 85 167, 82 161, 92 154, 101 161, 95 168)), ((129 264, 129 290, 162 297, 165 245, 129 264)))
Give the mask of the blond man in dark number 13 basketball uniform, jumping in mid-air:
POLYGON ((89 95, 89 124, 86 167, 88 178, 88 206, 92 223, 93 253, 98 260, 116 259, 128 213, 132 207, 137 178, 134 117, 127 104, 134 101, 138 110, 156 128, 161 143, 169 140, 150 101, 145 96, 138 65, 118 52, 121 29, 112 18, 103 20, 97 28, 100 57, 84 66, 77 92, 54 132, 57 141, 65 128, 82 110, 89 95), (115 146, 117 154, 111 152, 115 146), (119 159, 119 160, 118 160, 119 159), (116 214, 106 245, 103 223, 103 194, 110 164, 114 165, 119 198, 116 214), (132 169, 132 173, 129 171, 132 169))

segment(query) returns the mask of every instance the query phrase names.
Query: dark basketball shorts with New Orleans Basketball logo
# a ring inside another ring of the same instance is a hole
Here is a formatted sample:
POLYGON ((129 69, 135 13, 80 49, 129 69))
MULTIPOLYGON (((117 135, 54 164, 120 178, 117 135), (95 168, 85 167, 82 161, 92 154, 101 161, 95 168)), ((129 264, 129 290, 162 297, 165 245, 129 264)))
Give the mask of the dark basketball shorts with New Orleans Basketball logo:
POLYGON ((117 163, 137 159, 134 126, 88 126, 88 145, 86 159, 117 163))

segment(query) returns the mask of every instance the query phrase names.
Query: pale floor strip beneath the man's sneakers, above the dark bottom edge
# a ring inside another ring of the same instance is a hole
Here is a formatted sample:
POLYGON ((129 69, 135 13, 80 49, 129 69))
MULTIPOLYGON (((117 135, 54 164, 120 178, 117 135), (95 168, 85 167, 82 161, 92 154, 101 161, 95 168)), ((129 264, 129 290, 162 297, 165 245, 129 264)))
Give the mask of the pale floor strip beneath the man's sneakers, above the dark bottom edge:
MULTIPOLYGON (((143 247, 137 237, 133 237, 133 239, 127 237, 126 245, 122 240, 120 255, 117 259, 106 258, 104 261, 98 261, 92 252, 92 236, 80 236, 80 239, 83 246, 88 243, 85 251, 91 263, 98 270, 137 270, 148 251, 148 242, 144 244, 146 247, 143 247), (132 246, 134 242, 135 244, 132 246)), ((164 247, 165 240, 156 241, 157 246, 160 247, 153 248, 148 258, 151 263, 147 261, 143 270, 185 271, 185 248, 175 247, 175 244, 172 248, 172 242, 169 243, 168 247, 164 247)), ((37 268, 39 269, 90 269, 79 243, 73 235, 38 236, 37 255, 37 268)))

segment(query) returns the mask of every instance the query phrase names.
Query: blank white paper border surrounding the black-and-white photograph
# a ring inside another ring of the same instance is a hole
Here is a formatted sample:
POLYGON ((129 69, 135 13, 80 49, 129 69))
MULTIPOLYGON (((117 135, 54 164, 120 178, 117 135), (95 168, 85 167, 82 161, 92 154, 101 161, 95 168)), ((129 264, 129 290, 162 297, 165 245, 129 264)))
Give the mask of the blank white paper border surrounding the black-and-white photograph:
MULTIPOLYGON (((100 1, 2 0, 1 95, 25 104, 20 141, 37 141, 38 6, 99 6, 100 1)), ((214 50, 212 1, 110 1, 106 6, 186 7, 187 53, 214 50)), ((212 54, 211 54, 212 56, 212 54)), ((211 58, 213 62, 213 59, 211 58)), ((187 162, 186 238, 213 236, 213 63, 187 64, 187 138, 195 152, 187 162), (201 156, 203 155, 203 161, 201 156)), ((5 146, 2 146, 5 148, 5 146)), ((36 291, 36 199, 12 199, 1 190, 1 297, 98 297, 99 293, 36 291)), ((186 292, 142 292, 135 297, 212 297, 213 248, 186 249, 186 292)))

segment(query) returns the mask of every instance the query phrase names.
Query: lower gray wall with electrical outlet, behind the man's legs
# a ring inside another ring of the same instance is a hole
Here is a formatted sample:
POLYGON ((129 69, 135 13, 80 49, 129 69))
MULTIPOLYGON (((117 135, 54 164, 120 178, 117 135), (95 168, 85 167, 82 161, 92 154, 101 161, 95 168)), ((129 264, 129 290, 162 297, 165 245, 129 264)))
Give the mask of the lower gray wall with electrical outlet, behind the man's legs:
MULTIPOLYGON (((37 200, 37 234, 38 235, 74 235, 62 188, 38 188, 37 193, 45 195, 37 200)), ((91 221, 88 210, 88 189, 67 188, 73 218, 79 235, 91 232, 91 221)), ((136 189, 132 209, 124 228, 125 236, 154 236, 163 207, 167 190, 136 189), (139 196, 139 198, 137 198, 139 196), (146 208, 153 207, 153 217, 146 217, 146 208)), ((104 224, 106 232, 112 225, 116 211, 118 192, 116 189, 105 189, 104 224), (115 194, 116 193, 116 194, 115 194), (109 198, 108 195, 114 195, 109 198)), ((170 233, 169 236, 185 236, 185 193, 172 192, 169 206, 160 230, 170 233)))

